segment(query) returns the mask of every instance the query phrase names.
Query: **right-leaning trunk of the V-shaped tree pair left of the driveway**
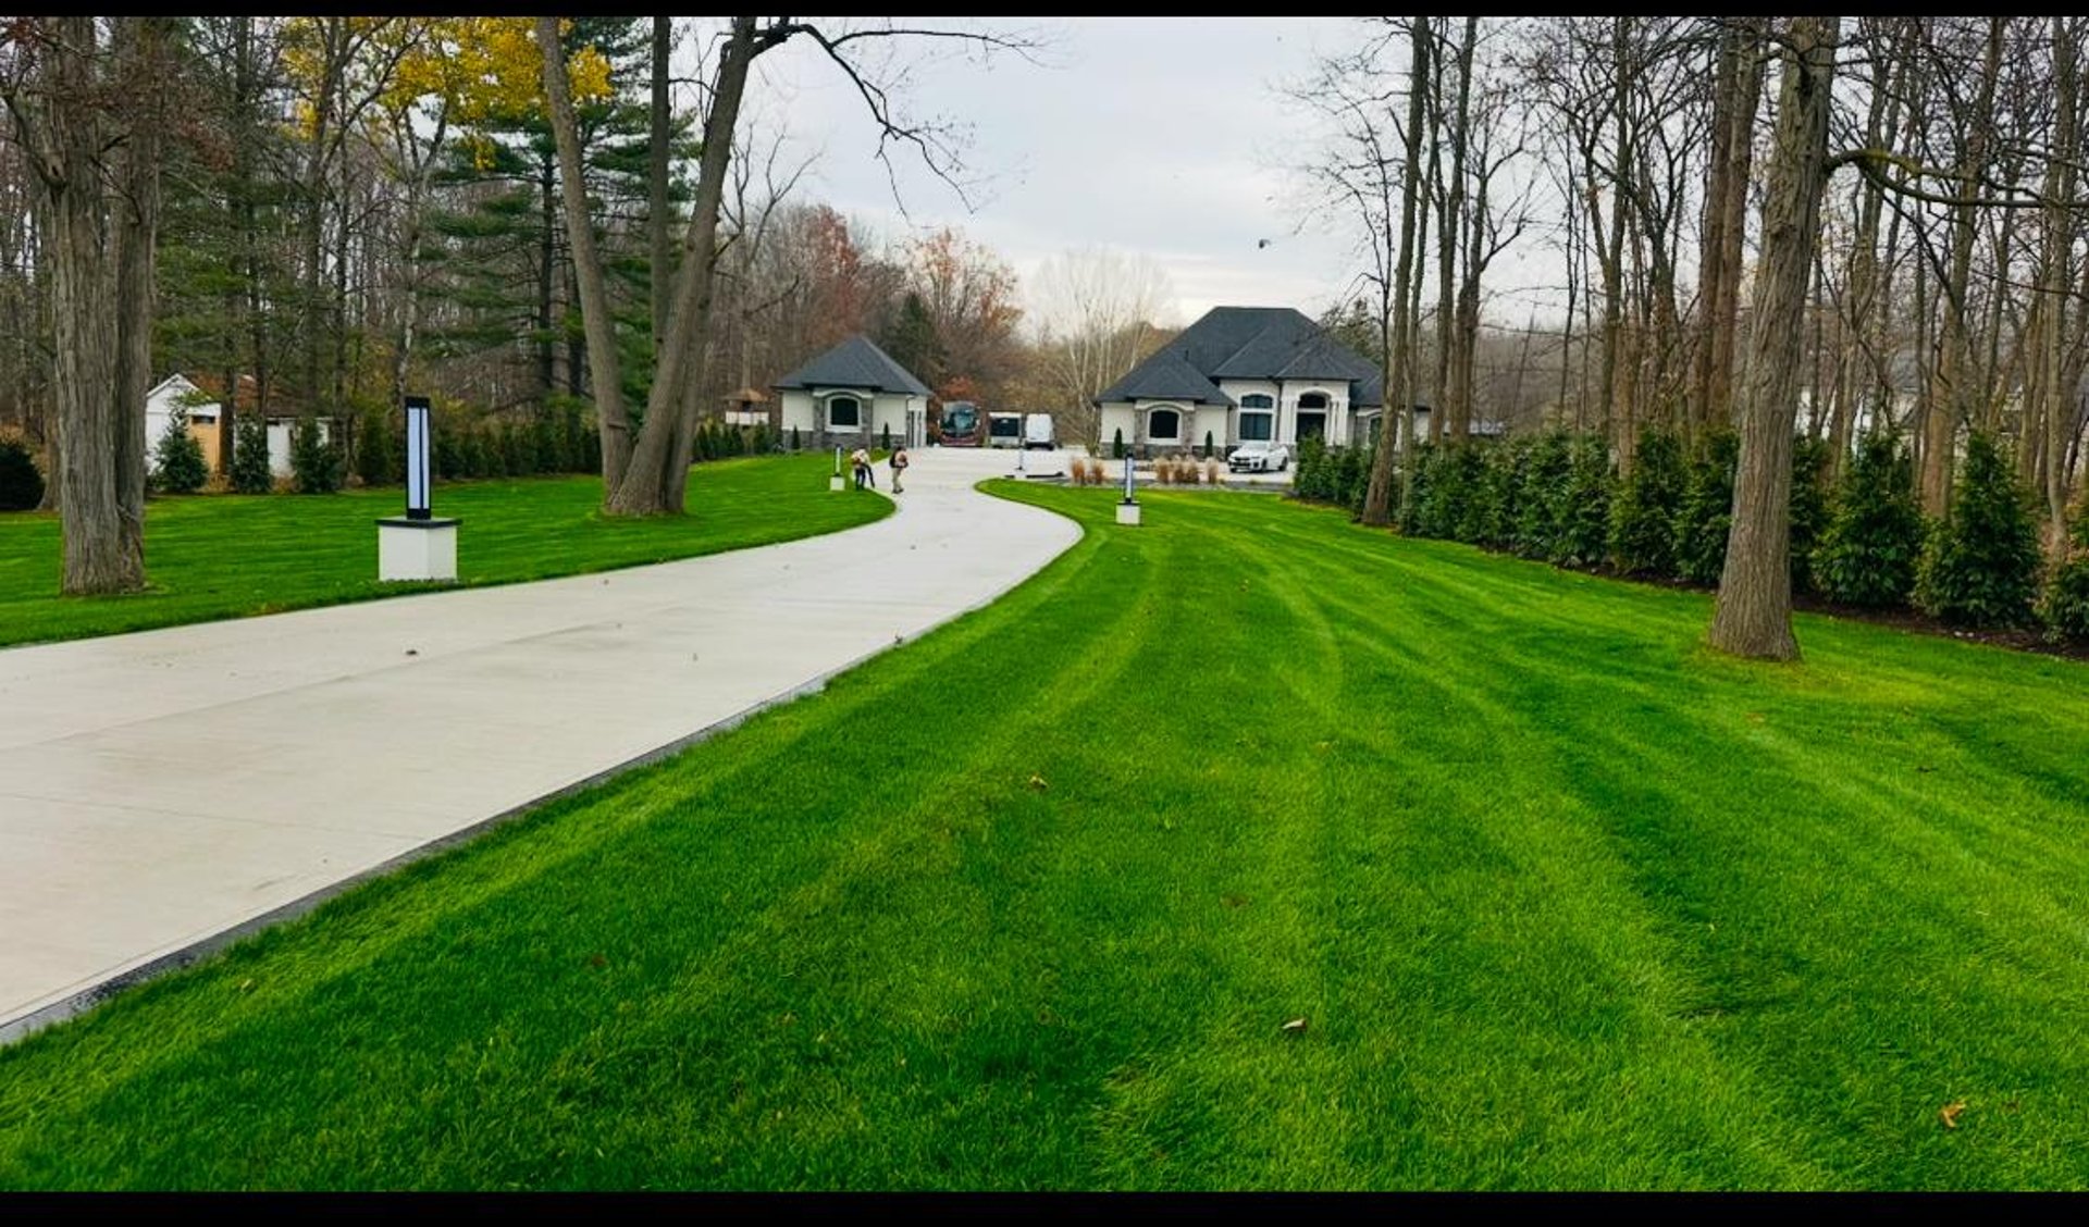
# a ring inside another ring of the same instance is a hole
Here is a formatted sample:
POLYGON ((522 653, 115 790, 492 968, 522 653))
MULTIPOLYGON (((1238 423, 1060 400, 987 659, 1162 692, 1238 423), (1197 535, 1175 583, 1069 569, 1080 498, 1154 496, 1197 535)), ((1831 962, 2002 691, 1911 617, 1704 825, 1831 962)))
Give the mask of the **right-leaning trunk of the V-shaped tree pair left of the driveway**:
POLYGON ((696 200, 689 209, 683 259, 675 271, 666 344, 654 371, 652 396, 646 401, 646 426, 631 451, 631 467, 608 503, 608 511, 614 515, 658 515, 681 509, 689 474, 689 442, 696 436, 696 405, 687 384, 691 367, 704 361, 704 342, 710 336, 712 284, 719 263, 719 207, 725 200, 725 169, 731 161, 740 98, 746 92, 748 65, 752 65, 754 54, 754 19, 735 17, 731 40, 719 58, 710 113, 704 117, 704 154, 698 161, 696 200))

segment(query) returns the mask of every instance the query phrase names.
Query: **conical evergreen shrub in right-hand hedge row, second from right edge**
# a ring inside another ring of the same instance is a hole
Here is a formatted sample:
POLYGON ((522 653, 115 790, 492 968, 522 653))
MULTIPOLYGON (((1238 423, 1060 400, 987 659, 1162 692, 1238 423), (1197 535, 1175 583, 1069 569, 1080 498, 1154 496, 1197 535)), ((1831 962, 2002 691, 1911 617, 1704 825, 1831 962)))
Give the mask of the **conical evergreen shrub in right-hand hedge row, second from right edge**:
POLYGON ((2039 526, 2031 497, 1995 440, 1966 440, 1951 513, 1930 532, 1916 603, 1953 626, 2026 626, 2039 597, 2039 526))

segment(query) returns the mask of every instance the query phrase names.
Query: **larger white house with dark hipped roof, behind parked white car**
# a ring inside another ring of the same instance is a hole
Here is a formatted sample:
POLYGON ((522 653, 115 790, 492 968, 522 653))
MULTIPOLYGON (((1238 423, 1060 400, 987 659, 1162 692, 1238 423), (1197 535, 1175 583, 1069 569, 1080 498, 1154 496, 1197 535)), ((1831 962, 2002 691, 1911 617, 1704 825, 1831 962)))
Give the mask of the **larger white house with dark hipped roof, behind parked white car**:
POLYGON ((1214 307, 1159 353, 1103 388, 1103 442, 1134 455, 1243 442, 1362 440, 1383 411, 1377 363, 1291 307, 1214 307))

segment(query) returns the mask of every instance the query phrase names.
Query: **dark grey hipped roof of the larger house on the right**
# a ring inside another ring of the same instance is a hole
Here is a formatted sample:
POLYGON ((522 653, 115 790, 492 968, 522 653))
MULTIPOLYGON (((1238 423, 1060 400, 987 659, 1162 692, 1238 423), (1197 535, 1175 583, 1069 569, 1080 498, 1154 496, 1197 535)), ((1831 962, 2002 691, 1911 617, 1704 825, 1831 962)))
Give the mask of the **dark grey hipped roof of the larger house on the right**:
POLYGON ((1101 401, 1233 401, 1216 380, 1335 380, 1356 407, 1383 405, 1379 367, 1291 307, 1214 307, 1097 394, 1101 401), (1201 394, 1191 388, 1201 386, 1201 394))

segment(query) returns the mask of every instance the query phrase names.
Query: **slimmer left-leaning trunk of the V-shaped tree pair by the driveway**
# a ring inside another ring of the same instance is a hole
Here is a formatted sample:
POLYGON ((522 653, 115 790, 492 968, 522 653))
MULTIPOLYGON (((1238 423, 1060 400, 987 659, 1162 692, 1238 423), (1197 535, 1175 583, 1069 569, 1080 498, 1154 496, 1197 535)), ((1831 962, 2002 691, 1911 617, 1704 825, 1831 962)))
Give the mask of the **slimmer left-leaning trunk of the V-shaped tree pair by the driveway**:
POLYGON ((558 19, 537 19, 537 48, 543 52, 543 92, 551 111, 551 138, 566 198, 566 244, 581 292, 581 328, 587 334, 587 367, 595 388, 595 432, 602 438, 602 499, 610 507, 631 463, 631 422, 625 417, 623 367, 616 359, 616 321, 610 292, 595 255, 595 223, 587 211, 587 179, 581 171, 581 129, 566 88, 566 50, 558 42, 558 19))

